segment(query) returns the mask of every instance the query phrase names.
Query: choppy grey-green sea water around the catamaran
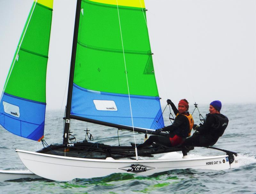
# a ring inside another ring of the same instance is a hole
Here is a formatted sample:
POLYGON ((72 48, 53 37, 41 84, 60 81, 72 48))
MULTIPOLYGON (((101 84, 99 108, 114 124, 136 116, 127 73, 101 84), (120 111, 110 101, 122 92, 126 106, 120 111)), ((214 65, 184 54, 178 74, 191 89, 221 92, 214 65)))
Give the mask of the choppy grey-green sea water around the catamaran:
MULTIPOLYGON (((208 113, 208 105, 198 106, 200 113, 208 113)), ((190 113, 194 110, 190 105, 190 113)), ((61 143, 63 133, 64 111, 47 111, 45 118, 45 140, 48 144, 61 143)), ((170 111, 164 112, 165 125, 170 125, 170 111)), ((76 179, 58 182, 46 179, 19 179, 0 182, 0 193, 256 193, 256 104, 223 105, 221 113, 229 118, 228 128, 214 145, 238 154, 239 167, 228 170, 195 170, 177 169, 151 176, 140 176, 126 173, 112 174, 92 179, 76 179)), ((173 113, 172 113, 173 114, 173 113)), ((200 123, 197 109, 193 113, 196 124, 200 123)), ((110 145, 130 145, 130 142, 142 143, 144 135, 130 135, 128 131, 117 131, 115 128, 85 123, 71 122, 72 135, 76 141, 82 141, 86 128, 90 130, 94 142, 110 145), (117 137, 119 136, 119 138, 117 137), (123 137, 122 137, 123 136, 123 137), (112 137, 110 139, 97 140, 112 137)), ((27 140, 11 134, 0 127, 0 169, 25 169, 16 149, 37 151, 43 145, 40 142, 27 140)), ((190 157, 223 155, 224 152, 207 148, 196 148, 188 153, 190 157)), ((154 158, 182 158, 181 152, 155 155, 154 158)), ((63 169, 65 170, 65 169, 63 169)))

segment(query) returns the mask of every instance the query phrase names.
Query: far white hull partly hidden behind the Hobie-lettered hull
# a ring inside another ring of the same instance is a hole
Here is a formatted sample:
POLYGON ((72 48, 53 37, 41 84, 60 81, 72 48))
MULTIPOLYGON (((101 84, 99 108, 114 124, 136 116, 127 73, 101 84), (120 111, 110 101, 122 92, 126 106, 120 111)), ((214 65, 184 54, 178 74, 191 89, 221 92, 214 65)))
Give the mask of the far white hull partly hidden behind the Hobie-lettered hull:
POLYGON ((21 178, 37 179, 42 177, 35 175, 29 170, 0 170, 0 182, 21 178))

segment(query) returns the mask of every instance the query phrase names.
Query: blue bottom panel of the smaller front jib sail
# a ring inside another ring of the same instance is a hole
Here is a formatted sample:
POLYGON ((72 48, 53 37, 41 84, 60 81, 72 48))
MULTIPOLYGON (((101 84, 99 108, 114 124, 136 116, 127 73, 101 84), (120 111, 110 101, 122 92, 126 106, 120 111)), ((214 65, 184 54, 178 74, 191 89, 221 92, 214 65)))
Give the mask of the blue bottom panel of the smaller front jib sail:
POLYGON ((4 93, 0 102, 0 125, 15 135, 40 141, 44 137, 45 106, 46 103, 4 93))

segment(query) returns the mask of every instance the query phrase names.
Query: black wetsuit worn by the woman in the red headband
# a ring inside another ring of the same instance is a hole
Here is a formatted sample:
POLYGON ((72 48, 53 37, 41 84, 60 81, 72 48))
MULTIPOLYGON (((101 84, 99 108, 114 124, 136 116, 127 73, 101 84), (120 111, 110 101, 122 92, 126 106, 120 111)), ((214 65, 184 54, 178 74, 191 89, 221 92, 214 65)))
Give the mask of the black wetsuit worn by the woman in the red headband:
MULTIPOLYGON (((177 113, 179 113, 178 109, 175 107, 173 103, 171 103, 171 106, 174 114, 177 115, 177 113)), ((182 114, 189 115, 188 112, 182 114)), ((163 131, 169 131, 169 134, 166 134, 166 136, 150 136, 143 144, 138 145, 137 148, 141 149, 149 147, 154 142, 165 147, 173 147, 176 146, 177 143, 181 144, 187 138, 189 131, 188 118, 182 114, 179 114, 175 118, 172 125, 163 128, 163 131), (174 140, 174 145, 172 145, 171 143, 172 138, 174 140)))

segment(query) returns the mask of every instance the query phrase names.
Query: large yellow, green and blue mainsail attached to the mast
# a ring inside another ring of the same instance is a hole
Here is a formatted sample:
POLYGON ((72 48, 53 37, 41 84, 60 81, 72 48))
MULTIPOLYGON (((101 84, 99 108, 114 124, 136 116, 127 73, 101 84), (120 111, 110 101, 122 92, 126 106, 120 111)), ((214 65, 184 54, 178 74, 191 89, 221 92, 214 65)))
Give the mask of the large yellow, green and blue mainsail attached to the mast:
POLYGON ((164 127, 152 54, 143 0, 82 0, 71 118, 164 127))

